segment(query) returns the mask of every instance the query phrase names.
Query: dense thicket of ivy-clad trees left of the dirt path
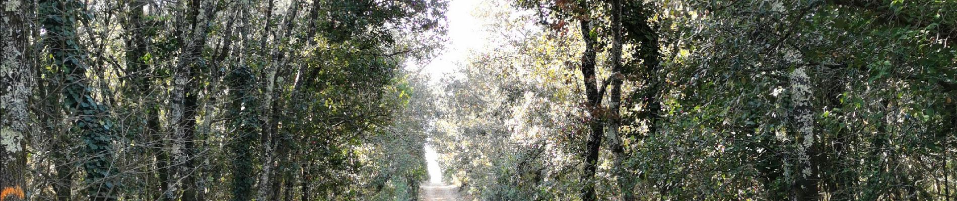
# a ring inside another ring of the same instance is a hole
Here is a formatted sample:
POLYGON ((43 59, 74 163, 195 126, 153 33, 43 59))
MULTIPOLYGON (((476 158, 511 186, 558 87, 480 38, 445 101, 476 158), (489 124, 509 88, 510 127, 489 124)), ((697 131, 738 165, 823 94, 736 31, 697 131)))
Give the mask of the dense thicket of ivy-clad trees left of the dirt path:
POLYGON ((0 200, 417 196, 443 1, 0 6, 0 200))

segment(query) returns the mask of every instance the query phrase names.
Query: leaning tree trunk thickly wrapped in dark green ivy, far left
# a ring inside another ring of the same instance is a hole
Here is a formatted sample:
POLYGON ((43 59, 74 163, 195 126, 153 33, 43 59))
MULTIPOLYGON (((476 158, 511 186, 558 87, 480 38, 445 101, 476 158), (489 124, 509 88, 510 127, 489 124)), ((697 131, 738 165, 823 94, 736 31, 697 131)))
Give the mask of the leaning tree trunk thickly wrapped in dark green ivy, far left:
POLYGON ((106 106, 100 105, 92 96, 87 85, 86 72, 89 66, 85 63, 85 52, 78 45, 76 38, 76 19, 79 2, 75 1, 40 1, 42 24, 49 32, 47 39, 50 54, 53 55, 54 65, 65 72, 63 79, 64 107, 70 111, 69 119, 74 122, 74 129, 80 132, 80 139, 84 142, 82 167, 86 171, 88 196, 90 200, 116 200, 115 184, 111 177, 116 172, 112 167, 112 122, 106 106))

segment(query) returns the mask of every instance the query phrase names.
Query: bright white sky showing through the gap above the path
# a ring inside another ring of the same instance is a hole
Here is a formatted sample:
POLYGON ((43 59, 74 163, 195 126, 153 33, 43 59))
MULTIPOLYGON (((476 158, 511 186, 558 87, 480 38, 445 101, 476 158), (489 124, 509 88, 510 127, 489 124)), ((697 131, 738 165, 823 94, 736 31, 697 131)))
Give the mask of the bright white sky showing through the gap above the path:
MULTIPOLYGON (((473 10, 479 8, 483 0, 450 0, 449 10, 445 16, 449 23, 449 42, 445 50, 436 56, 431 63, 425 67, 411 67, 413 70, 423 68, 422 71, 429 73, 431 83, 436 84, 447 73, 453 73, 465 61, 468 50, 479 49, 486 44, 486 37, 480 33, 480 19, 475 17, 473 10)), ((425 147, 425 158, 428 163, 430 181, 434 184, 442 183, 442 171, 438 166, 438 153, 430 146, 425 147)))

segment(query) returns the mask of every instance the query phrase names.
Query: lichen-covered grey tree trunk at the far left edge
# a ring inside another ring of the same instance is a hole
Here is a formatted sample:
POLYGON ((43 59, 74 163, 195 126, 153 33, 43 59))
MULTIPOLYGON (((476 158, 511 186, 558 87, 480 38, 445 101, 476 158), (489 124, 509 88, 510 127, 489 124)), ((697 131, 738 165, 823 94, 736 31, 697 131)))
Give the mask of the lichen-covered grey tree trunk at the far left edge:
POLYGON ((27 65, 26 4, 0 1, 0 199, 27 200, 28 100, 33 74, 27 65))

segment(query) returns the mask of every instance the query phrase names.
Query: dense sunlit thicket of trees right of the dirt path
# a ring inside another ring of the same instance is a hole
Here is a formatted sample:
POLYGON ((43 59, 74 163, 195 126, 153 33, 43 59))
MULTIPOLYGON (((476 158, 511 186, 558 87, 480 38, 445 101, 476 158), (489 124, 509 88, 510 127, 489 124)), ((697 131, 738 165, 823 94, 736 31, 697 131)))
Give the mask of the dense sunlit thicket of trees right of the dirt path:
POLYGON ((434 143, 481 200, 957 199, 957 2, 484 2, 434 143))

